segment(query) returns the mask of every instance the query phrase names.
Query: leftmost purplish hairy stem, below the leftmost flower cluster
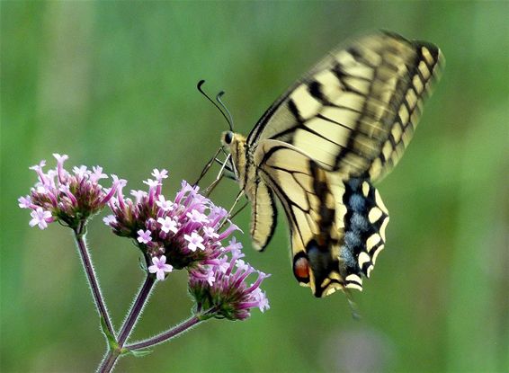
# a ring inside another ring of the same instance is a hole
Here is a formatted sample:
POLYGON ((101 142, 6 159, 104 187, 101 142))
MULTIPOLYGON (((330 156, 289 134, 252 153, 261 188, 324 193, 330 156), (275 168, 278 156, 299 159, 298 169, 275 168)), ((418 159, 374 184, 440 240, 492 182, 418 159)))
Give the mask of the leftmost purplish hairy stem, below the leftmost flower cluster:
POLYGON ((85 222, 76 226, 74 230, 76 245, 78 247, 78 251, 81 257, 81 261, 83 263, 83 268, 85 269, 86 279, 88 280, 88 284, 90 289, 92 290, 92 295, 94 296, 95 307, 99 312, 99 315, 104 320, 104 324, 108 329, 108 333, 110 333, 113 337, 115 336, 115 332, 112 326, 112 319, 108 314, 108 309, 104 304, 103 294, 101 293, 101 288, 99 287, 99 282, 97 280, 97 276, 95 275, 94 266, 92 265, 92 259, 90 258, 90 253, 88 252, 88 248, 85 243, 85 222))

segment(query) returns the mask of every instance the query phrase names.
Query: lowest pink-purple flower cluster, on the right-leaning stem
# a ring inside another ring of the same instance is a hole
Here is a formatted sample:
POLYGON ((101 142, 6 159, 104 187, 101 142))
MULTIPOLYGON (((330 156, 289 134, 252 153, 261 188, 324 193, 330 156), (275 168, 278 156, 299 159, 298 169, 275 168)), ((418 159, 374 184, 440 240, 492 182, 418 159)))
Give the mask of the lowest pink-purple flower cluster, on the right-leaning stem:
POLYGON ((241 247, 234 237, 222 249, 216 263, 199 265, 190 271, 189 291, 196 299, 198 313, 213 309, 210 316, 245 320, 251 315, 251 308, 260 308, 262 312, 269 308, 265 293, 260 289, 262 281, 269 275, 244 262, 241 247), (257 274, 257 278, 247 285, 246 280, 251 274, 257 274))

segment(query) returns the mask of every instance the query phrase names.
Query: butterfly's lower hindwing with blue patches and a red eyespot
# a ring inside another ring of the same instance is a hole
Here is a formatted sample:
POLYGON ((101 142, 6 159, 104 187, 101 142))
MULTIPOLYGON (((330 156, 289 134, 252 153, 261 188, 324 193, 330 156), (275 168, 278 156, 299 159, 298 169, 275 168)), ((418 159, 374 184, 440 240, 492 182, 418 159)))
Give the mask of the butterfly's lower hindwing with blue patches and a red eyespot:
POLYGON ((362 290, 383 249, 388 212, 369 182, 344 181, 298 148, 263 140, 255 152, 260 184, 268 186, 289 221, 293 273, 322 297, 362 290))

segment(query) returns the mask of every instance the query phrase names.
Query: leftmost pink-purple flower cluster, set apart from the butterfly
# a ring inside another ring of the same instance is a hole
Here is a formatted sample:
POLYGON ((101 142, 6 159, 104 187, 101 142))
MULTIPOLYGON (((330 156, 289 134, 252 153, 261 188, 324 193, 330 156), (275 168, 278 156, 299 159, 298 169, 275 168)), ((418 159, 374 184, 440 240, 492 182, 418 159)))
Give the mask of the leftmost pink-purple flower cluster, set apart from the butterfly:
POLYGON ((30 167, 39 177, 39 182, 31 189, 31 193, 20 197, 19 206, 22 209, 32 209, 31 226, 44 229, 48 223, 60 221, 76 229, 112 199, 119 179, 112 175, 112 188, 104 189, 99 181, 108 176, 103 168, 96 166, 92 171, 85 165, 74 167, 69 173, 64 169, 67 155, 53 155, 57 159, 57 167, 44 173, 46 161, 30 167))

